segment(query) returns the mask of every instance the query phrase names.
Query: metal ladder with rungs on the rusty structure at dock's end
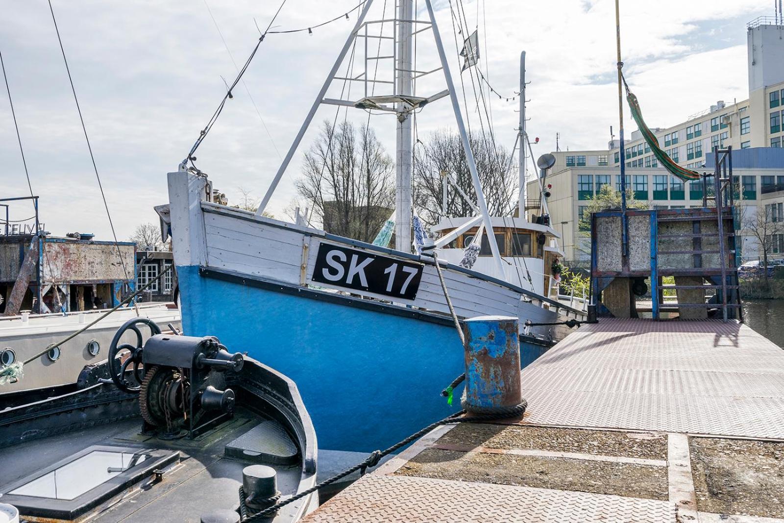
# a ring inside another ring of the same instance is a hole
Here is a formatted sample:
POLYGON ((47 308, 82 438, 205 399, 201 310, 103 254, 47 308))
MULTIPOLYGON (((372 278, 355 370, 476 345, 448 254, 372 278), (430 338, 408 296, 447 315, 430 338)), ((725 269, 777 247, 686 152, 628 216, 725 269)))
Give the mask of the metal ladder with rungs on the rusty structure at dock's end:
MULTIPOLYGON (((702 176, 702 207, 699 214, 695 213, 698 209, 684 209, 683 216, 657 216, 658 223, 672 223, 672 222, 691 222, 691 233, 679 234, 659 234, 658 225, 656 232, 656 280, 652 281, 652 286, 657 292, 656 301, 663 303, 663 290, 664 289, 715 289, 720 294, 713 296, 720 296, 721 302, 715 303, 711 301, 704 301, 703 303, 677 303, 677 307, 709 307, 720 308, 722 311, 723 321, 728 321, 730 318, 729 310, 736 309, 738 311, 737 317, 740 321, 742 318, 742 309, 740 304, 740 293, 738 283, 738 269, 736 263, 736 249, 735 249, 735 228, 732 231, 724 231, 726 223, 729 220, 728 212, 733 212, 735 209, 735 198, 733 194, 732 184, 732 159, 731 147, 727 149, 716 148, 713 151, 715 158, 715 169, 713 173, 713 195, 708 194, 708 178, 709 176, 702 176), (708 209, 708 201, 713 200, 715 205, 715 212, 706 213, 708 209), (705 221, 717 222, 717 233, 703 232, 701 223, 705 221), (718 235, 718 249, 702 249, 702 238, 713 238, 718 235), (659 241, 662 239, 673 238, 691 238, 691 249, 678 249, 678 250, 662 250, 659 247, 659 241), (661 255, 677 255, 677 254, 691 254, 693 256, 694 267, 688 268, 662 268, 659 267, 659 256, 661 255), (718 254, 720 259, 720 267, 703 267, 702 255, 705 254, 718 254), (710 279, 710 284, 702 285, 662 285, 659 281, 662 276, 688 276, 688 275, 702 276, 710 279), (720 278, 718 281, 716 278, 720 278), (729 281, 728 281, 729 280, 729 281), (730 302, 729 294, 732 294, 733 300, 730 302)), ((735 216, 730 215, 731 223, 734 225, 735 216)), ((654 319, 659 319, 659 307, 655 307, 654 319)))

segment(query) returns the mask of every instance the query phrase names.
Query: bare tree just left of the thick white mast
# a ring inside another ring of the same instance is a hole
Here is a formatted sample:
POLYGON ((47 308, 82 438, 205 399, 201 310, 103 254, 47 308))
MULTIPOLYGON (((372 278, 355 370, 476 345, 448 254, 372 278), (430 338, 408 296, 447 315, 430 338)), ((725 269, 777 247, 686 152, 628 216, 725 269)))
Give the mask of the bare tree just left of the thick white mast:
POLYGON ((296 188, 326 231, 371 242, 394 206, 393 170, 372 129, 324 122, 296 188))

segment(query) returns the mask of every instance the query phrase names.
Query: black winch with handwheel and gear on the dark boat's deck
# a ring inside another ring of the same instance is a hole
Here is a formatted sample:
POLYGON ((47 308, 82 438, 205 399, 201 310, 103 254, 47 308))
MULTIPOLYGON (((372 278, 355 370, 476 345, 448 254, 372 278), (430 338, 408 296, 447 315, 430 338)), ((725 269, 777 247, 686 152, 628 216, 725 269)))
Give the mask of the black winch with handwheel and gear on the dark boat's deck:
POLYGON ((215 336, 162 334, 154 321, 132 318, 114 335, 108 357, 111 381, 126 392, 139 392, 145 433, 194 438, 234 414, 234 390, 226 387, 225 373, 239 372, 245 359, 215 336), (144 343, 140 325, 151 332, 144 343), (121 343, 126 332, 136 335, 135 345, 121 343))

